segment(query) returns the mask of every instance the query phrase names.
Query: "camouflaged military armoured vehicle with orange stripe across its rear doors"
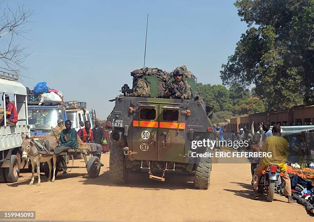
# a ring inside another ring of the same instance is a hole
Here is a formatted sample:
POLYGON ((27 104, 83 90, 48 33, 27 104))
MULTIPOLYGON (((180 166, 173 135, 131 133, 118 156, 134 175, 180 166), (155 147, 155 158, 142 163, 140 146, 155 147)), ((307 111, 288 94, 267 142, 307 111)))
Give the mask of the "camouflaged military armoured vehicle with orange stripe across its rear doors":
MULTIPOLYGON (((212 106, 194 99, 157 97, 158 78, 144 76, 149 82, 150 97, 120 95, 107 118, 110 133, 110 180, 127 182, 129 173, 148 171, 149 178, 165 180, 167 171, 194 171, 194 187, 208 189, 211 159, 195 153, 211 152, 209 147, 192 149, 193 140, 215 139, 210 122, 212 106), (155 94, 155 95, 153 95, 155 94)), ((195 95, 195 79, 184 78, 195 95)), ((126 89, 125 85, 122 89, 126 89)))

